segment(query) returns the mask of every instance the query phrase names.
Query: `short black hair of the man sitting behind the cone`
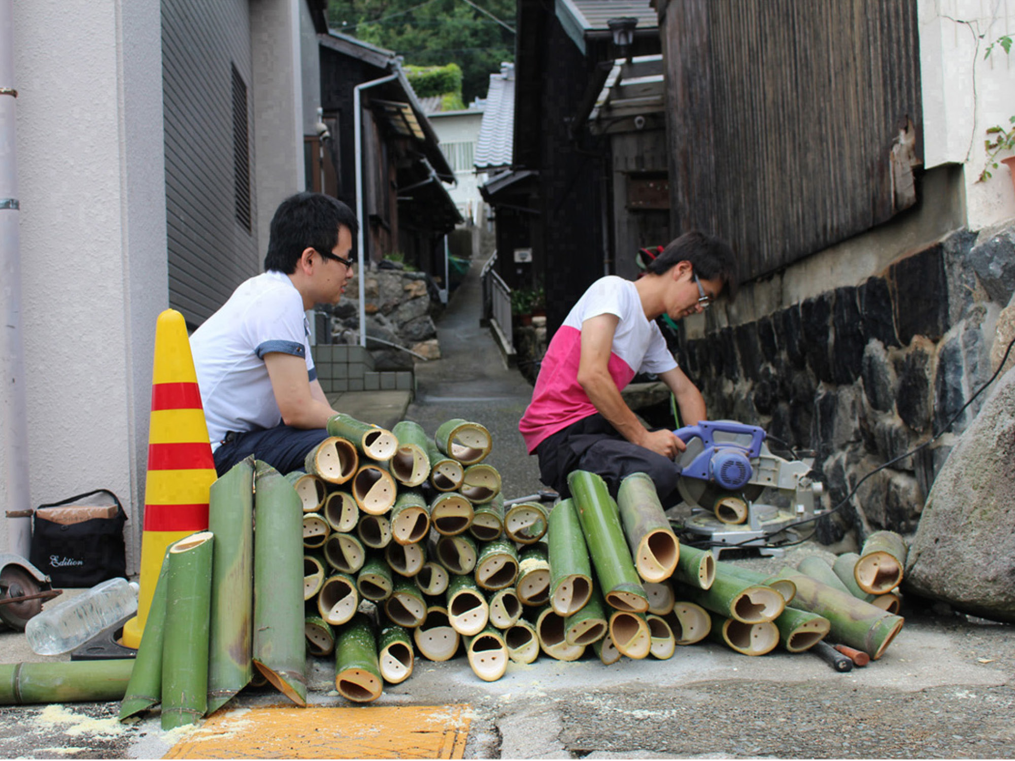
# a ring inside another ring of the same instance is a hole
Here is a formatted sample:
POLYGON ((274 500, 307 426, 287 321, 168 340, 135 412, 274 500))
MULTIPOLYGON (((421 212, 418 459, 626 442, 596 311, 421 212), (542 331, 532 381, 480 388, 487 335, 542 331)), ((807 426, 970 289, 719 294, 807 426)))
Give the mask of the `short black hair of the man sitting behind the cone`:
POLYGON ((297 193, 282 201, 271 218, 265 270, 291 275, 306 249, 330 254, 338 243, 338 229, 348 227, 355 238, 359 222, 352 209, 322 193, 297 193))

